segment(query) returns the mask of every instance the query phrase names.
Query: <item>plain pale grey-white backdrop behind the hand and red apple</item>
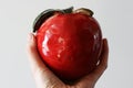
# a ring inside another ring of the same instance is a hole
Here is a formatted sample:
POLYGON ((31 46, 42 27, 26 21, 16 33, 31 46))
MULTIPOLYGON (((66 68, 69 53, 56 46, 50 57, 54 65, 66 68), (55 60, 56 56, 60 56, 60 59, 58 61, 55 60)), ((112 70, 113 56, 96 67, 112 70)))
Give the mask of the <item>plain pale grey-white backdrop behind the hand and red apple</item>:
POLYGON ((110 45, 95 88, 133 88, 132 0, 0 0, 0 88, 35 88, 25 45, 34 18, 49 8, 90 8, 110 45))

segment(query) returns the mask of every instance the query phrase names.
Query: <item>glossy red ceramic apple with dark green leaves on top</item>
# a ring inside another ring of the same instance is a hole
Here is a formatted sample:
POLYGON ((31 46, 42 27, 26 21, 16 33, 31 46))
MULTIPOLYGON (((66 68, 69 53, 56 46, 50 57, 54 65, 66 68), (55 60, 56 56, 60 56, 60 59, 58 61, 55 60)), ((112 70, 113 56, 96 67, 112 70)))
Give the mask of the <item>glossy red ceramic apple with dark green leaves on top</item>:
POLYGON ((34 32, 40 56, 61 79, 78 79, 95 68, 102 33, 91 10, 47 10, 37 18, 34 32))

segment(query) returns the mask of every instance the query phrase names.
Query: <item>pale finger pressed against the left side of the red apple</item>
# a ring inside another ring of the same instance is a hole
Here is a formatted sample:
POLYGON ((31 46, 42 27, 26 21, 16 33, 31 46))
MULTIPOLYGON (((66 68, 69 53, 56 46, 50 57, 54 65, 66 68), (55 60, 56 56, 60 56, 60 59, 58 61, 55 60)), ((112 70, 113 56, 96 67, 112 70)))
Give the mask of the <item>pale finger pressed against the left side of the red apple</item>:
POLYGON ((35 72, 37 68, 40 68, 40 69, 44 68, 44 64, 41 57, 39 56, 39 53, 37 50, 35 37, 32 33, 29 34, 28 55, 29 55, 29 61, 30 61, 31 68, 33 72, 35 72))

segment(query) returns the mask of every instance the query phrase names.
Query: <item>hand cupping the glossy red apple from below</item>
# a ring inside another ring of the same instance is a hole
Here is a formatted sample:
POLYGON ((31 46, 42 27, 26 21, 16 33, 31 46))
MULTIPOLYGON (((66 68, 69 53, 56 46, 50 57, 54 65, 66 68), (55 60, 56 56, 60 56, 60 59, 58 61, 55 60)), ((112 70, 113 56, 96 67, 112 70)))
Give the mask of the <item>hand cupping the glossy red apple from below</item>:
POLYGON ((79 79, 75 84, 64 84, 42 62, 37 50, 34 35, 31 33, 29 36, 28 55, 38 88, 94 88, 98 79, 108 67, 109 47, 108 41, 104 38, 98 67, 88 76, 79 79))

